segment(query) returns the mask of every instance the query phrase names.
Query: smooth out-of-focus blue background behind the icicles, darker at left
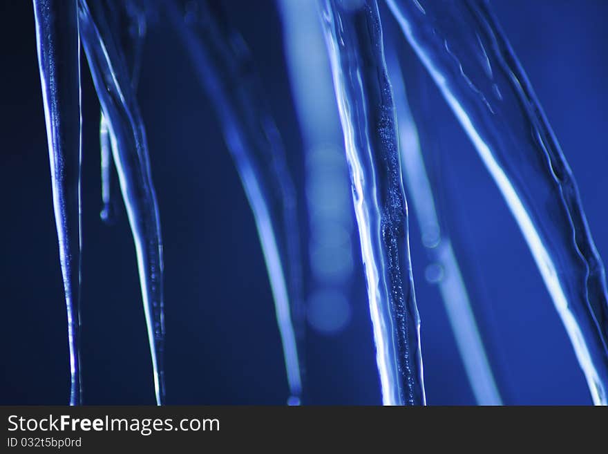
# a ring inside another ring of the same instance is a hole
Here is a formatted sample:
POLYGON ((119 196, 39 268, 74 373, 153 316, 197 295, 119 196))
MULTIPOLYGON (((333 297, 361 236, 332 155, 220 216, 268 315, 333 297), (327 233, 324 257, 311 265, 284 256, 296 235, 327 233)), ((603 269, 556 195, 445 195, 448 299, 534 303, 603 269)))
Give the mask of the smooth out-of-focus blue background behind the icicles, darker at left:
MULTIPOLYGON (((307 210, 314 200, 304 190, 310 153, 305 153, 291 91, 281 11, 271 0, 222 3, 249 44, 283 135, 307 244, 312 235, 307 210)), ((608 2, 491 3, 560 140, 593 238, 606 258, 608 153, 602 137, 608 126, 608 2)), ((32 4, 0 5, 0 404, 66 404, 66 309, 32 4)), ((406 42, 399 42, 410 70, 421 71, 406 42)), ((434 155, 435 173, 445 179, 441 207, 471 283, 468 290, 505 403, 590 404, 569 340, 515 221, 439 93, 432 84, 426 87, 433 112, 428 121, 437 149, 444 151, 434 155)), ((164 243, 167 402, 285 404, 281 341, 254 219, 211 105, 162 17, 149 25, 138 97, 164 243)), ((153 404, 124 207, 118 205, 115 225, 99 219, 99 103, 84 55, 82 118, 84 402, 153 404)), ((352 263, 341 285, 348 291, 333 312, 315 312, 314 301, 309 308, 304 404, 381 403, 361 254, 346 200, 352 263)), ((410 247, 428 403, 475 404, 439 292, 425 278, 428 258, 413 217, 410 247)), ((305 265, 309 287, 318 273, 314 264, 305 265)))

